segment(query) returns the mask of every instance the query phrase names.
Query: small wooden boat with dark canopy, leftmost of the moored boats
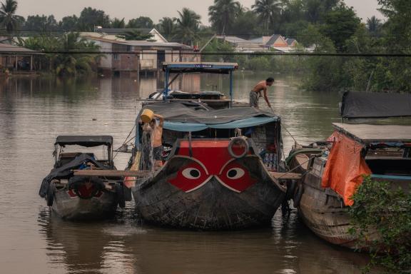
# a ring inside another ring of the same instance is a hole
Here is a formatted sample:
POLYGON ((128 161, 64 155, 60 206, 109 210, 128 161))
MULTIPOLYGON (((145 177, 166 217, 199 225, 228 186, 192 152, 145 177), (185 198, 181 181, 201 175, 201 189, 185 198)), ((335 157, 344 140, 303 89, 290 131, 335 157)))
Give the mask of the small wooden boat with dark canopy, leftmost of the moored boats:
POLYGON ((61 218, 83 220, 107 218, 117 205, 124 207, 123 179, 75 176, 74 170, 114 170, 113 137, 58 136, 54 150, 55 164, 41 183, 39 195, 61 218), (103 146, 106 156, 98 160, 95 153, 66 152, 67 146, 93 148, 103 146))

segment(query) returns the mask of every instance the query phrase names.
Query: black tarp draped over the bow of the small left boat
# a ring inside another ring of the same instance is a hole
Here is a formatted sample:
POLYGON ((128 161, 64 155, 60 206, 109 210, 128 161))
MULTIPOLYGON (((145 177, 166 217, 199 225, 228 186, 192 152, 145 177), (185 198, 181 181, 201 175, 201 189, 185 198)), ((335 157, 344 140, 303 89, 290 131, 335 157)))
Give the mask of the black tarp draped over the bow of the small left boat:
POLYGON ((86 153, 82 153, 74 158, 72 161, 66 163, 64 166, 59 168, 54 168, 51 170, 48 176, 41 182, 41 187, 39 195, 41 197, 46 197, 47 189, 49 188, 49 183, 54 179, 66 179, 73 176, 73 170, 78 169, 84 163, 93 163, 94 166, 101 169, 111 169, 109 166, 105 166, 99 163, 95 158, 89 156, 86 153))

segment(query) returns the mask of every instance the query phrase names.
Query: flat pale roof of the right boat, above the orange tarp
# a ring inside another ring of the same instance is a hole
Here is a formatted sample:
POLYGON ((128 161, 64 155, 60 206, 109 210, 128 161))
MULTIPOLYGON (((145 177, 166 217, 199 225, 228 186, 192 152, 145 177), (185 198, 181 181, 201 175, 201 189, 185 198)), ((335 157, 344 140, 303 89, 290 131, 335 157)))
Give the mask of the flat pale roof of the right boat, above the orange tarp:
POLYGON ((411 143, 411 126, 333 123, 337 131, 360 143, 411 143))

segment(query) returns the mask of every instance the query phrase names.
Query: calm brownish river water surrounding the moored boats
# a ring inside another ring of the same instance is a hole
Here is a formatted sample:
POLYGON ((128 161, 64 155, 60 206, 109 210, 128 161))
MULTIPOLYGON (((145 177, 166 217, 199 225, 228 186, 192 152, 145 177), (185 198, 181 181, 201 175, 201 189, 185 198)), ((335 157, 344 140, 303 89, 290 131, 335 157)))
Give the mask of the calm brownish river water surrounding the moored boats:
MULTIPOLYGON (((268 75, 235 74, 235 98, 248 100, 268 75)), ((275 76, 273 108, 300 143, 330 135, 338 93, 298 88, 299 78, 275 76)), ((227 91, 225 77, 201 87, 227 91)), ((271 227, 223 233, 170 230, 136 220, 133 204, 116 218, 75 223, 51 216, 38 196, 53 166, 56 136, 109 134, 120 146, 133 127, 136 98, 156 78, 0 79, 0 273, 360 273, 367 257, 338 248, 305 228, 293 210, 271 227), (140 87, 140 88, 138 88, 140 87)), ((260 101, 260 106, 265 103, 260 101)), ((284 133, 285 150, 293 139, 284 133)), ((118 154, 123 169, 128 155, 118 154)))

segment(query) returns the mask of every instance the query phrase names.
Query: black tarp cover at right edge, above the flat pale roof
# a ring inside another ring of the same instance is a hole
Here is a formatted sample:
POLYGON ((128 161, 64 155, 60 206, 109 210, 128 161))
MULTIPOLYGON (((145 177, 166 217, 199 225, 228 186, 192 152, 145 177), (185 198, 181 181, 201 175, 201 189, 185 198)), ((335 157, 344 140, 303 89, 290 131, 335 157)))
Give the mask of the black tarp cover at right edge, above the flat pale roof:
POLYGON ((411 116, 411 94, 347 91, 342 96, 342 118, 411 116))

